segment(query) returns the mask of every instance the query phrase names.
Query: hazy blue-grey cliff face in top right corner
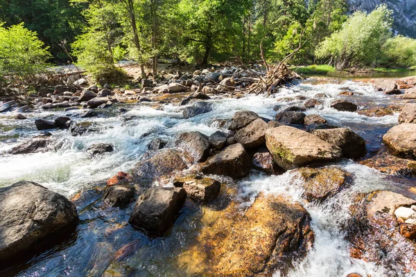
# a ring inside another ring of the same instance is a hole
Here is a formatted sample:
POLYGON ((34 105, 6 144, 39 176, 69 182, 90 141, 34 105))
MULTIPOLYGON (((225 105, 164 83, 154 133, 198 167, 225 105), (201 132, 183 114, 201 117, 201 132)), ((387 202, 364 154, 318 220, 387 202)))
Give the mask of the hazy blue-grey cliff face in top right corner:
POLYGON ((393 28, 401 35, 416 38, 416 0, 349 0, 349 10, 371 12, 380 4, 386 3, 394 11, 393 28))

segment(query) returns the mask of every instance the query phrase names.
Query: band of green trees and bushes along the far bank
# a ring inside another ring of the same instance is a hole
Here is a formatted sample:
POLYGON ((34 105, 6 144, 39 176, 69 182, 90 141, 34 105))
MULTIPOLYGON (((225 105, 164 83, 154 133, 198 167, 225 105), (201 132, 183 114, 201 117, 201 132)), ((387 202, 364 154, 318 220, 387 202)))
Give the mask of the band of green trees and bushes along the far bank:
POLYGON ((31 78, 76 63, 99 78, 134 60, 157 75, 164 58, 201 67, 284 57, 337 70, 416 65, 416 40, 397 35, 387 6, 347 10, 345 0, 0 0, 0 72, 31 78))

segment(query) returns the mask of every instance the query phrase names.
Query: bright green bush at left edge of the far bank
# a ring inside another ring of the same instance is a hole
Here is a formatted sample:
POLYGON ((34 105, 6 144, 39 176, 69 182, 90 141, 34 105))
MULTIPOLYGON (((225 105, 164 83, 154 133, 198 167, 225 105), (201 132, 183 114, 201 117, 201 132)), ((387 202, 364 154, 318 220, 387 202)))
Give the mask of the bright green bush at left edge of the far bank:
POLYGON ((37 74, 48 66, 46 61, 51 57, 48 48, 24 24, 8 28, 0 25, 0 72, 33 85, 37 74))

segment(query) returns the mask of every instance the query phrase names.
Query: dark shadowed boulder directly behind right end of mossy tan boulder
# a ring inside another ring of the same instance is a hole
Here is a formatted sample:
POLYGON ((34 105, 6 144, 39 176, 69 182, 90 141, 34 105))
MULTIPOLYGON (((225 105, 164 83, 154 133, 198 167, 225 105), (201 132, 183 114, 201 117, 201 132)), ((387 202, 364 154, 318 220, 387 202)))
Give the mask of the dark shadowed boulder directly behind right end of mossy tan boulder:
POLYGON ((349 128, 316 129, 312 134, 343 150, 343 156, 349 159, 358 159, 366 153, 365 141, 361 136, 349 128))

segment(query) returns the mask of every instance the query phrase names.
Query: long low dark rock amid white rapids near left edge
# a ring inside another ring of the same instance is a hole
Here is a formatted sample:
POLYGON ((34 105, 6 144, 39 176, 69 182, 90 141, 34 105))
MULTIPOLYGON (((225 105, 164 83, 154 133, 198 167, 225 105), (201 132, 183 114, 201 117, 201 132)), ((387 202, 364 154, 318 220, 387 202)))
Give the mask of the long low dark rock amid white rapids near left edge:
POLYGON ((9 154, 31 154, 47 152, 58 148, 58 141, 52 136, 35 136, 8 151, 9 154))

